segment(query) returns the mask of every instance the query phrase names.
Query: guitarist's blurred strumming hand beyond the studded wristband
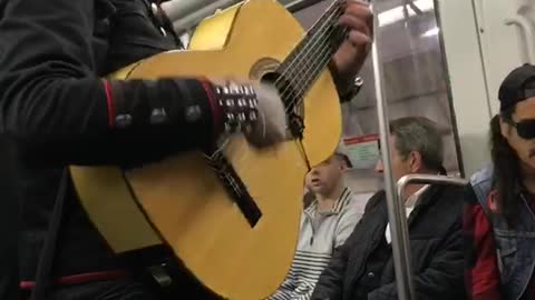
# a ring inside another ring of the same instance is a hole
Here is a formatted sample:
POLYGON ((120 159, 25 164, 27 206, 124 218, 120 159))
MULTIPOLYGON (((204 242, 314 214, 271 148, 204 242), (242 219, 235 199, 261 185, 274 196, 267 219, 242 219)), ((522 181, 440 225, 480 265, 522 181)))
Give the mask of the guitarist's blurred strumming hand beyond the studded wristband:
POLYGON ((271 84, 254 83, 259 100, 259 119, 252 131, 245 133, 247 141, 256 148, 265 148, 284 141, 286 113, 279 91, 271 84))

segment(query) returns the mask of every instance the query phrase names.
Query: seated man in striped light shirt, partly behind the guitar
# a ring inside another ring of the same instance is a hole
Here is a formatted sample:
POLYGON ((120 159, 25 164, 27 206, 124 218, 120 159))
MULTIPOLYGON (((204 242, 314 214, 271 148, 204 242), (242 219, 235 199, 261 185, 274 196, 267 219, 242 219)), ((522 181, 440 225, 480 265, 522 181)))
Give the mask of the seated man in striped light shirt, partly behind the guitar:
POLYGON ((301 216, 298 250, 290 272, 270 299, 309 299, 333 249, 346 241, 362 217, 366 203, 344 186, 344 169, 343 154, 337 152, 307 174, 305 186, 313 200, 301 216))

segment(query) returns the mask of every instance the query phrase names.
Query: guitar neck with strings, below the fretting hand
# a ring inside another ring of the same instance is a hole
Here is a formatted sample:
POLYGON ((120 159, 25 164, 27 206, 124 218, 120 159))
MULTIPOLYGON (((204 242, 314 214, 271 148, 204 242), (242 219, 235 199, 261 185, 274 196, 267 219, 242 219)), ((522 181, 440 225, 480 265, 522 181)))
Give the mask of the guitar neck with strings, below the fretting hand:
POLYGON ((348 34, 347 28, 338 26, 342 12, 341 1, 333 1, 281 63, 278 73, 282 80, 276 82, 280 89, 290 83, 295 97, 307 93, 348 34))

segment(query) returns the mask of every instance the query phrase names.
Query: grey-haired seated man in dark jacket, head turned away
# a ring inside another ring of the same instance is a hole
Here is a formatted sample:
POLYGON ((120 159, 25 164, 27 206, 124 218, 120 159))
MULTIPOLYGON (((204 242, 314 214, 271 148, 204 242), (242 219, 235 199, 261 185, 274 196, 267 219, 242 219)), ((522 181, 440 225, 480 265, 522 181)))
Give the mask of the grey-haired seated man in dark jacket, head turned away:
MULTIPOLYGON (((426 118, 390 123, 395 180, 410 173, 445 173, 442 140, 426 118)), ((382 172, 382 162, 376 168, 382 172)), ((456 186, 407 186, 405 201, 414 287, 417 299, 464 299, 461 196, 456 186)), ((369 200, 367 212, 346 243, 337 248, 312 299, 398 299, 385 192, 369 200)))

